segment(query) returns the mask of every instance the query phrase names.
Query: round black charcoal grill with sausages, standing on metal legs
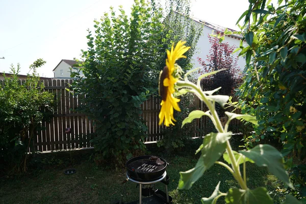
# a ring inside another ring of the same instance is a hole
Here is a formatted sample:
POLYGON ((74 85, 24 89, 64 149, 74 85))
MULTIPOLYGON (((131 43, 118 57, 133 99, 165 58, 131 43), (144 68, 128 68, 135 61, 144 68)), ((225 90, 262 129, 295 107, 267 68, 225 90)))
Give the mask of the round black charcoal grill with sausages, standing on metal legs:
POLYGON ((166 160, 151 155, 135 157, 127 161, 126 180, 124 182, 121 199, 118 203, 123 203, 122 197, 124 195, 125 183, 127 181, 132 181, 139 185, 139 202, 134 201, 130 204, 142 204, 142 202, 171 203, 172 197, 168 194, 169 176, 167 176, 166 167, 166 160), (165 184, 166 192, 159 189, 154 189, 154 185, 158 182, 165 184), (145 198, 142 199, 142 196, 145 198))

